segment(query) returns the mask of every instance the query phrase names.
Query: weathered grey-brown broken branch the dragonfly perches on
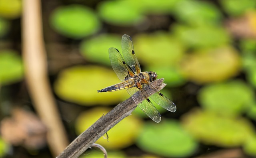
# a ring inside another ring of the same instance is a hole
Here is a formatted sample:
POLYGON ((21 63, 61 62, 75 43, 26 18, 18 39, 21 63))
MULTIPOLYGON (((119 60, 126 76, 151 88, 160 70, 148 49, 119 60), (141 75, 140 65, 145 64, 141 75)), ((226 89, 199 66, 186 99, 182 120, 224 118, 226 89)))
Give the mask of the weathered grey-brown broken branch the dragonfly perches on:
MULTIPOLYGON (((166 85, 164 79, 152 82, 153 87, 160 91, 166 85)), ((150 94, 152 95, 152 94, 150 94)), ((125 117, 129 116, 137 107, 132 98, 118 104, 112 111, 98 119, 86 131, 80 134, 57 158, 77 158, 87 150, 96 140, 103 136, 125 117)))

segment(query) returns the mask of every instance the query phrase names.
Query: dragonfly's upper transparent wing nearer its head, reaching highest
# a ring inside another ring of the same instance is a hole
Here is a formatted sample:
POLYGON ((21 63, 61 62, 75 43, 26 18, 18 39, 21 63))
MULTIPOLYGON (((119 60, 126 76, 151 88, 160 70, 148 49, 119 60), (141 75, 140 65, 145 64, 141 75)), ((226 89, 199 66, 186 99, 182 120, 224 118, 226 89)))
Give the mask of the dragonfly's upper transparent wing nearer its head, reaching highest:
POLYGON ((134 53, 134 47, 132 44, 132 38, 128 35, 122 36, 122 53, 127 64, 132 71, 136 74, 140 73, 140 64, 134 53))

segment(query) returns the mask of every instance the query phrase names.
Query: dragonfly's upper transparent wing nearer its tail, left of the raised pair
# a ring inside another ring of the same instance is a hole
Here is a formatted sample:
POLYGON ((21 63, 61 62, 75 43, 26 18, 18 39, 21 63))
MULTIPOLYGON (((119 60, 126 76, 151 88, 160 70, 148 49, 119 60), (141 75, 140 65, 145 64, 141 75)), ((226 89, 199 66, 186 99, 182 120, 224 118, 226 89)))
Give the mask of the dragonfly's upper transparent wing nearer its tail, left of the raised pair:
POLYGON ((117 77, 121 81, 125 81, 134 76, 132 70, 126 65, 122 55, 116 48, 109 48, 109 59, 113 70, 115 71, 117 77))

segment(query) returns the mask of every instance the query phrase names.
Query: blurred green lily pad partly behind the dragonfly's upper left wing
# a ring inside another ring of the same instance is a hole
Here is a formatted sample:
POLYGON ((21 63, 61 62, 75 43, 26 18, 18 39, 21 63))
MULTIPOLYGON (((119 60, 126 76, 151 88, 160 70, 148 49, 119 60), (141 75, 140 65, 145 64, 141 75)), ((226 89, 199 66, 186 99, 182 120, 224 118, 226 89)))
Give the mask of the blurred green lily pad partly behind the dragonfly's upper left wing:
POLYGON ((84 40, 80 44, 80 51, 90 61, 110 65, 108 48, 114 47, 121 52, 121 39, 121 36, 110 34, 96 36, 92 39, 84 40))

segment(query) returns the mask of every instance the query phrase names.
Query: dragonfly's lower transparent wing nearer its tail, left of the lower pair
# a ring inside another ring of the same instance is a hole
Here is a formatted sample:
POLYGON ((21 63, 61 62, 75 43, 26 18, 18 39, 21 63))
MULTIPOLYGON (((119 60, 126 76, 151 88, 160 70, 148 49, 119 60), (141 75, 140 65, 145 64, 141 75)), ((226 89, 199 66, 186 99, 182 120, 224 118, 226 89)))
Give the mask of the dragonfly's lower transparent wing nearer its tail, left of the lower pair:
POLYGON ((151 101, 146 97, 143 90, 138 89, 137 87, 131 87, 127 89, 127 92, 132 97, 133 101, 138 105, 138 107, 146 114, 150 119, 156 123, 160 122, 161 115, 156 110, 156 107, 151 103, 151 101), (140 102, 144 99, 142 102, 140 102))

